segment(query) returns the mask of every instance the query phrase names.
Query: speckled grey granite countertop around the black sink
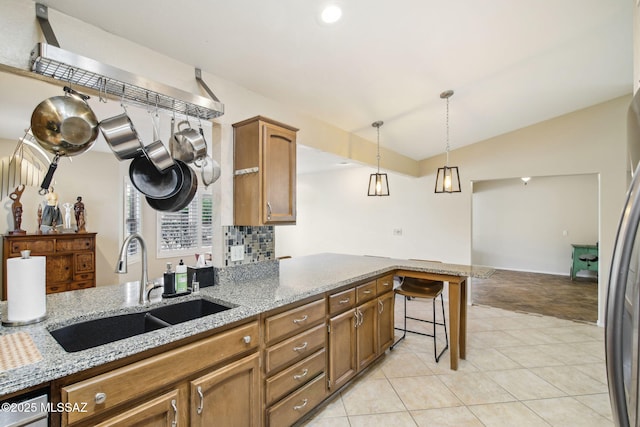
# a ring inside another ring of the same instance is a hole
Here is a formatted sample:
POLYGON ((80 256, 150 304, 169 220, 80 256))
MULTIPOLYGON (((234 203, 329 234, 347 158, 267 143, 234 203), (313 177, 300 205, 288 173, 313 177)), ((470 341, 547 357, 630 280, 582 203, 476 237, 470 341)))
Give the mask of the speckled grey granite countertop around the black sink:
MULTIPOLYGON (((494 271, 488 267, 428 261, 318 254, 224 268, 218 271, 219 283, 201 288, 199 295, 165 300, 155 296, 147 306, 137 304, 138 282, 50 294, 47 295, 47 319, 43 322, 0 327, 0 335, 28 333, 43 356, 39 362, 0 372, 0 398, 396 269, 478 278, 489 277, 494 271), (48 332, 78 321, 146 311, 196 298, 234 308, 75 353, 67 353, 48 332)), ((5 313, 6 302, 0 304, 0 311, 5 313)))

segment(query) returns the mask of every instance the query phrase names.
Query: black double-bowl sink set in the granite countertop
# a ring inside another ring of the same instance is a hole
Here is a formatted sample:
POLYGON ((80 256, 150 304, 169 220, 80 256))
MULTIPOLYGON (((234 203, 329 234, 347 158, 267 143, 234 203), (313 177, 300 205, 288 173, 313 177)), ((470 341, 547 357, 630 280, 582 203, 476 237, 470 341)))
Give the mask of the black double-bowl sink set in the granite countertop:
POLYGON ((141 313, 121 314, 74 323, 49 333, 62 348, 73 353, 229 309, 231 307, 197 299, 141 313))

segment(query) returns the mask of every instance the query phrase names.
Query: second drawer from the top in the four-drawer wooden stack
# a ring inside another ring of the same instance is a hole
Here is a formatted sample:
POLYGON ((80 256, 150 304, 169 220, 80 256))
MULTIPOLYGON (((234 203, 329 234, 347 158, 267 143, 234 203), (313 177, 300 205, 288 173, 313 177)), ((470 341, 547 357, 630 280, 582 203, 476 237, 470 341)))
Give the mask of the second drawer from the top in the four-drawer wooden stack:
POLYGON ((316 350, 325 347, 327 328, 324 324, 291 337, 267 349, 266 372, 273 373, 291 363, 308 357, 316 350))

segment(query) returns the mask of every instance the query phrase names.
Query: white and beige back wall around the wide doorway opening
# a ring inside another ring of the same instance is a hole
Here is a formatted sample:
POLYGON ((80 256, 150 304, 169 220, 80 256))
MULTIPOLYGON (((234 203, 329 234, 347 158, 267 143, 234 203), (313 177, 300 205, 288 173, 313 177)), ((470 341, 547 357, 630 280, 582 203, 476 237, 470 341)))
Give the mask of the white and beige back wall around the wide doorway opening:
POLYGON ((298 223, 276 228, 276 254, 319 251, 438 259, 469 264, 472 183, 521 176, 598 176, 601 249, 599 318, 626 192, 626 116, 630 96, 452 151, 462 193, 434 194, 444 156, 421 162, 421 177, 390 173, 389 197, 367 197, 373 168, 298 178, 298 223), (402 236, 393 229, 401 228, 402 236))

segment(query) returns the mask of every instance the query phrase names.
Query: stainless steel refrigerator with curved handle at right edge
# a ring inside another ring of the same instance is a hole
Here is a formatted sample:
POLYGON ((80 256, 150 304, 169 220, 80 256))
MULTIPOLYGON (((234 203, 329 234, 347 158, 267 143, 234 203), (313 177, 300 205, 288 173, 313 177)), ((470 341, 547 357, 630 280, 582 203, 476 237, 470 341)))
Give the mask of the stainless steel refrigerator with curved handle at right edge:
POLYGON ((627 116, 631 185, 618 225, 605 317, 605 350, 611 409, 617 426, 640 427, 640 91, 627 116))

